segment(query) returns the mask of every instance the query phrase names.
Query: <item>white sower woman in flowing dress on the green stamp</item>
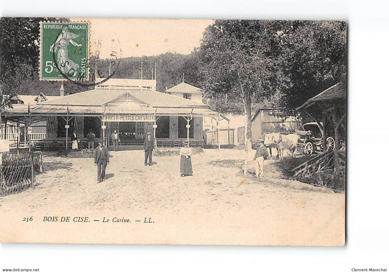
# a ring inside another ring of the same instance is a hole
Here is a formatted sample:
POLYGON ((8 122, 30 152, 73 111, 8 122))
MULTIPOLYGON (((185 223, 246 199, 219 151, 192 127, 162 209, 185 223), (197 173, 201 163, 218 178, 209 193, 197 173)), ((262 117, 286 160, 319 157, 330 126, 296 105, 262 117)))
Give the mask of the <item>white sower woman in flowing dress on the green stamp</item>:
POLYGON ((58 36, 57 40, 50 47, 50 52, 53 52, 54 50, 54 53, 56 54, 56 61, 58 67, 60 68, 62 73, 65 73, 67 76, 74 76, 75 74, 77 74, 77 69, 79 68, 79 65, 74 63, 74 61, 72 61, 68 57, 69 42, 75 47, 82 46, 81 44, 77 44, 73 41, 74 38, 78 37, 80 37, 80 35, 70 32, 65 26, 62 29, 61 34, 58 36))

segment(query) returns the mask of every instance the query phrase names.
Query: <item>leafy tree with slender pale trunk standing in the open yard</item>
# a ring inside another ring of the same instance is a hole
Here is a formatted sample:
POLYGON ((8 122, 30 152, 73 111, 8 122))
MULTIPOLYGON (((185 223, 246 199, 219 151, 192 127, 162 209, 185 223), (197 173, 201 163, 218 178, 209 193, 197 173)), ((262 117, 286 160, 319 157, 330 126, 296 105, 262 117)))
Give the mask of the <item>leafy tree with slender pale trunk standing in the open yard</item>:
MULTIPOLYGON (((203 89, 213 97, 229 96, 231 109, 246 116, 245 164, 251 148, 251 106, 276 92, 282 75, 272 43, 277 21, 216 20, 200 47, 206 73, 203 89)), ((217 99, 218 100, 218 99, 217 99)), ((215 105, 214 105, 215 106, 215 105)), ((222 111, 221 105, 219 112, 222 111)))

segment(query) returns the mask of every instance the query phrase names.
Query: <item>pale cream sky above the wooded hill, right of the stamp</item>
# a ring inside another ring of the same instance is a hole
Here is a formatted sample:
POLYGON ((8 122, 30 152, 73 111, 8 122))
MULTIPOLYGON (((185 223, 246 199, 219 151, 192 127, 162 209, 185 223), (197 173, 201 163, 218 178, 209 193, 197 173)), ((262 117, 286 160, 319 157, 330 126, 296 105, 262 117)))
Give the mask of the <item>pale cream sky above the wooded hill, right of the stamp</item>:
POLYGON ((101 59, 190 54, 214 20, 73 18, 91 23, 91 53, 101 59), (111 56, 114 54, 114 56, 111 56))

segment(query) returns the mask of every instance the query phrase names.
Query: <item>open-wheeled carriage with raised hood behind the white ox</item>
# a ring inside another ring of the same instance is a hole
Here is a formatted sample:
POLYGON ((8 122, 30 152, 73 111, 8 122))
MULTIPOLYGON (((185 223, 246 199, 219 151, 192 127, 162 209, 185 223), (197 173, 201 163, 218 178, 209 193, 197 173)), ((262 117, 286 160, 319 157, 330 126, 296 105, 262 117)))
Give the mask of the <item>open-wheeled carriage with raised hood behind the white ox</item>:
MULTIPOLYGON (((321 123, 322 125, 322 123, 321 123)), ((307 156, 324 152, 323 150, 323 130, 317 122, 309 122, 303 125, 303 130, 297 130, 296 134, 300 136, 297 148, 304 151, 307 156)), ((327 137, 327 150, 334 150, 335 140, 327 137)))

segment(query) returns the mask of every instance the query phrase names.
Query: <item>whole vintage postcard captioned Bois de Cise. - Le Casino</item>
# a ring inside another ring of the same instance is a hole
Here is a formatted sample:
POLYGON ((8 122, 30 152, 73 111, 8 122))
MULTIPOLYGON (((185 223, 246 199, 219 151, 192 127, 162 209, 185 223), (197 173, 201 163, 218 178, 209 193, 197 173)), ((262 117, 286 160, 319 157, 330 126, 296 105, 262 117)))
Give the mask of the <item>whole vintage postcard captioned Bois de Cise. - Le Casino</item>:
POLYGON ((0 31, 0 242, 345 244, 344 21, 0 31))

